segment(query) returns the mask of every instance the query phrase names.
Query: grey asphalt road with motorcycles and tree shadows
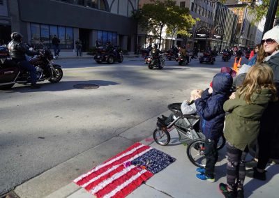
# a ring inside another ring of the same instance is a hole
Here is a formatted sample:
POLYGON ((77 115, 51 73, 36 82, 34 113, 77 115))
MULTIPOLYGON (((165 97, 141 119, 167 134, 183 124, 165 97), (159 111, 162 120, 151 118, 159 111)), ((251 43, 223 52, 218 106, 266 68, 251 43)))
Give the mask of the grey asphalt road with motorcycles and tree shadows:
POLYGON ((205 89, 233 60, 224 63, 219 56, 214 65, 192 60, 188 66, 166 61, 163 70, 149 70, 139 58, 112 65, 92 59, 56 63, 63 66, 61 82, 0 91, 0 195, 165 112, 169 103, 189 98, 190 90, 205 89))

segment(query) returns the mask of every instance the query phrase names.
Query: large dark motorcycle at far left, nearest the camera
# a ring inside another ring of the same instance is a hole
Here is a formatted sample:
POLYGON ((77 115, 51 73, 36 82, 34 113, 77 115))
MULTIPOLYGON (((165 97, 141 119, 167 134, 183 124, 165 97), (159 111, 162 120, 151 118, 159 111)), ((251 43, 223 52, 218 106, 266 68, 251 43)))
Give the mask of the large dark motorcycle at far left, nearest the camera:
MULTIPOLYGON (((8 48, 1 47, 0 51, 8 52, 8 48)), ((29 63, 36 68, 37 81, 47 79, 52 83, 59 82, 63 77, 61 66, 54 64, 52 52, 48 49, 40 50, 40 55, 35 55, 29 59, 29 63)), ((10 89, 15 83, 27 84, 31 80, 30 72, 20 67, 20 63, 15 63, 8 53, 0 53, 0 89, 10 89), (3 55, 5 54, 5 55, 3 55)))

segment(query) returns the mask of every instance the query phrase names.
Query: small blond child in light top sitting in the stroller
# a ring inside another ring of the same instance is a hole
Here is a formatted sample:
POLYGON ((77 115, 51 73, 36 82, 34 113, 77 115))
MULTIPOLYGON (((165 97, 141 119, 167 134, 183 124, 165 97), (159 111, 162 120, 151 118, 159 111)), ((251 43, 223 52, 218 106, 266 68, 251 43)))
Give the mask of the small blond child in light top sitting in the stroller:
MULTIPOLYGON (((197 98, 201 98, 202 97, 202 89, 194 89, 193 91, 191 91, 191 96, 190 96, 190 100, 184 100, 181 104, 181 112, 185 115, 185 114, 197 114, 197 109, 196 109, 196 105, 195 105, 195 100, 197 98)), ((176 119, 174 117, 174 113, 170 114, 168 117, 163 116, 163 119, 158 118, 158 122, 160 123, 160 125, 162 126, 166 126, 169 125, 169 123, 171 123, 172 121, 174 121, 174 119, 176 119)), ((182 125, 184 127, 187 127, 187 123, 186 121, 184 121, 183 119, 179 119, 179 121, 176 122, 177 125, 182 125)))

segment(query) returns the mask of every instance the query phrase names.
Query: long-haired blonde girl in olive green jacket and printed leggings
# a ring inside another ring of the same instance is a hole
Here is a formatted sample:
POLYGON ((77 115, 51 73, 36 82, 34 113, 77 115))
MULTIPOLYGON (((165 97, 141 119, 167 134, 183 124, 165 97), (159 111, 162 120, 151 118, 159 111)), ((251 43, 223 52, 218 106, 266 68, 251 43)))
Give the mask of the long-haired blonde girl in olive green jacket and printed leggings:
POLYGON ((248 144, 257 139, 260 119, 269 101, 277 100, 273 71, 264 64, 252 66, 239 86, 235 98, 224 104, 225 138, 227 139, 227 184, 220 183, 225 197, 244 197, 245 158, 248 144))

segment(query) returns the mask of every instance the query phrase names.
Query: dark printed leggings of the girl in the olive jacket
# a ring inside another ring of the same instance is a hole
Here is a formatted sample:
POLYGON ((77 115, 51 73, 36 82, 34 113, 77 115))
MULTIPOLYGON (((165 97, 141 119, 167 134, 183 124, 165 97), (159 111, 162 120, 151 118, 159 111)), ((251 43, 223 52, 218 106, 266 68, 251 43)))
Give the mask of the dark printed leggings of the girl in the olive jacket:
POLYGON ((227 188, 231 190, 243 188, 247 153, 247 147, 244 151, 241 151, 227 142, 227 188))

